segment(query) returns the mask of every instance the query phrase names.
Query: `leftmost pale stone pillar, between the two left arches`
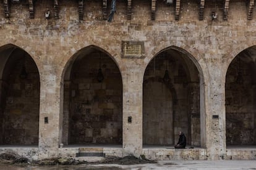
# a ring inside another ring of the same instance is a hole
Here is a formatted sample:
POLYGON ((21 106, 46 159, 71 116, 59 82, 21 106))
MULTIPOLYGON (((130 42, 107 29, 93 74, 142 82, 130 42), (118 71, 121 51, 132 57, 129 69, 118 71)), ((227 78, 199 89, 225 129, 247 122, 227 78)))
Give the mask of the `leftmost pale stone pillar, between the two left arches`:
MULTIPOLYGON (((39 159, 58 156, 61 83, 56 65, 43 65, 40 74, 39 159)), ((62 113, 61 113, 62 114, 62 113)))

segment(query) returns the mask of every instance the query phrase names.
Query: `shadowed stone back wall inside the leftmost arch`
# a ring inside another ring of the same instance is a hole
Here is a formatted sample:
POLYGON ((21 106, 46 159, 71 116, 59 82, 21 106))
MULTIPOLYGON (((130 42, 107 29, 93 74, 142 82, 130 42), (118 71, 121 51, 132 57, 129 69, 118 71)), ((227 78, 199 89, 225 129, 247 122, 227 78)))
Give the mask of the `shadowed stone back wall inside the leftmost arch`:
POLYGON ((11 73, 6 80, 8 87, 5 89, 7 94, 2 116, 4 132, 1 144, 37 145, 40 93, 38 70, 31 57, 20 51, 14 53, 17 61, 13 65, 7 64, 7 67, 11 67, 11 73), (27 73, 26 78, 20 77, 23 67, 27 73))

